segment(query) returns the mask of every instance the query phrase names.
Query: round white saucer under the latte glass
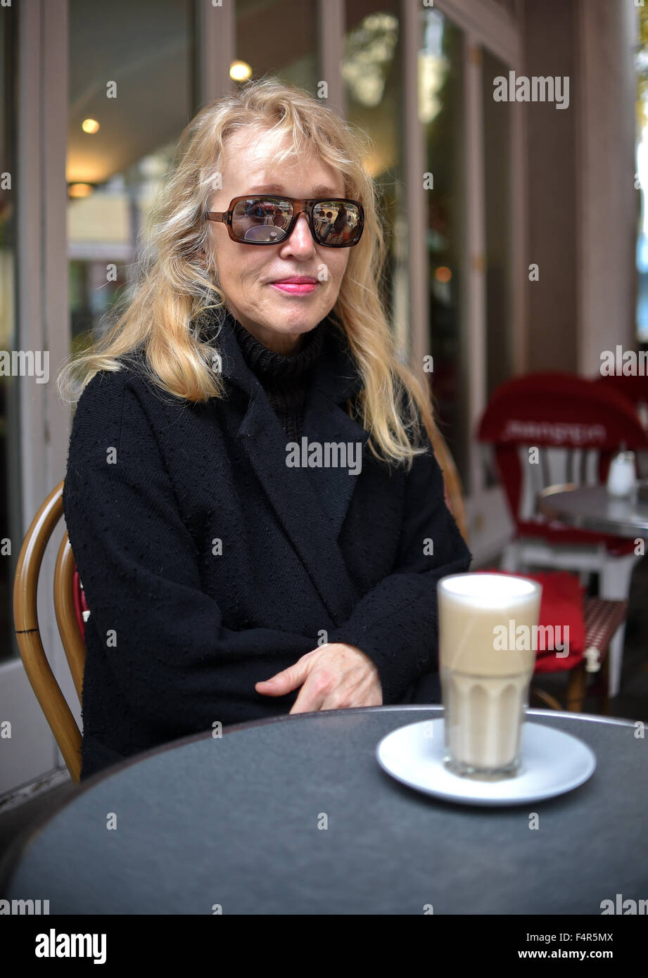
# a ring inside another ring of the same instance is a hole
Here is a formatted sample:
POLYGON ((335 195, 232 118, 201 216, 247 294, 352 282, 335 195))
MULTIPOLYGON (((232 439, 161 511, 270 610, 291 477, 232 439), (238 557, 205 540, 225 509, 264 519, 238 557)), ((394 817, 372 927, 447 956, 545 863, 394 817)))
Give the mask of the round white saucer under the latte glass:
POLYGON ((520 770, 514 778, 482 781, 448 771, 444 721, 422 720, 384 736, 378 764, 412 788, 464 805, 521 805, 563 794, 583 784, 596 767, 593 752, 570 733, 525 723, 520 770))

